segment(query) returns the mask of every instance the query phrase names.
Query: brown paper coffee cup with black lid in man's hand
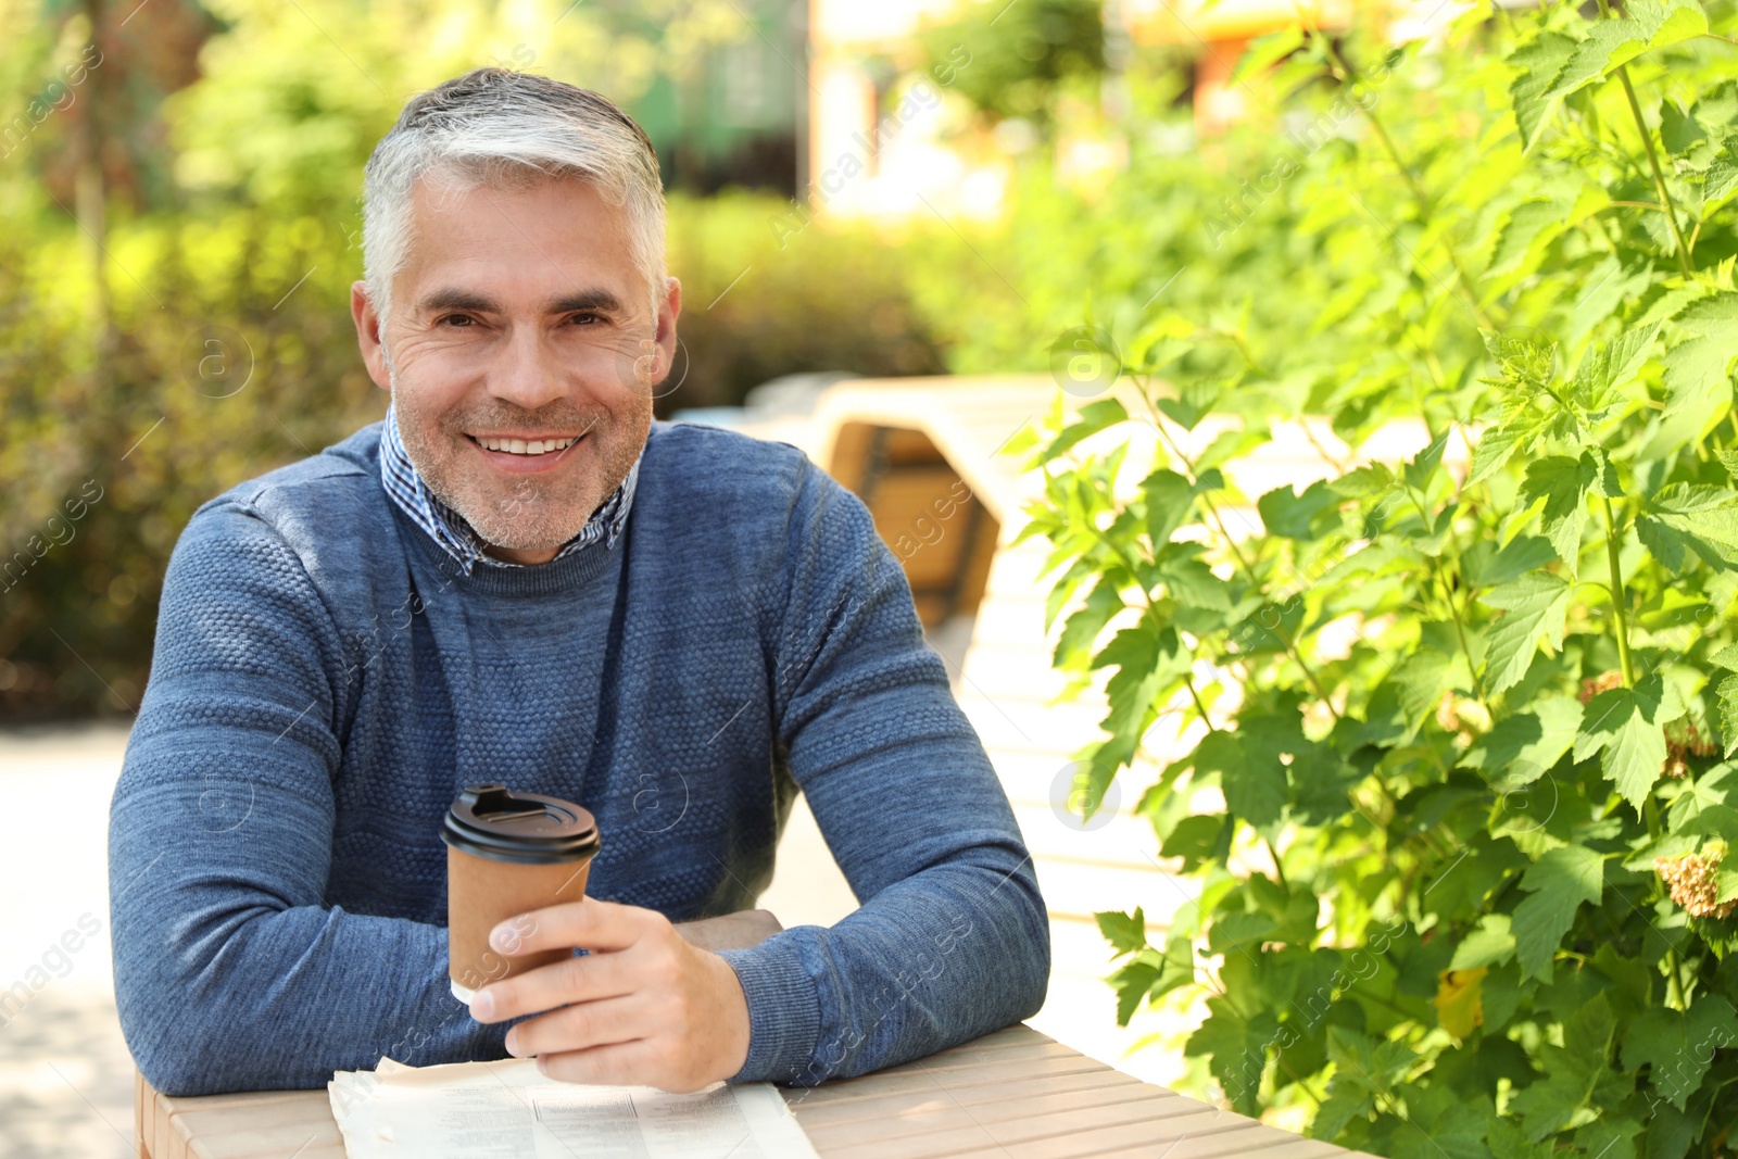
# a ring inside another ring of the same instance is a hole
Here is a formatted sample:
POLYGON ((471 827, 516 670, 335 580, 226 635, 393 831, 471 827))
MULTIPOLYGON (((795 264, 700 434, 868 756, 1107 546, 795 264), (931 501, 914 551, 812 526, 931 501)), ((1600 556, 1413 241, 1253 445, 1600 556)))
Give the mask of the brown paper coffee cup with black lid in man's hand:
POLYGON ((572 801, 506 785, 466 785, 441 827, 447 843, 447 949, 454 997, 469 1004, 476 990, 572 949, 506 956, 488 933, 516 914, 577 902, 596 857, 598 824, 572 801))

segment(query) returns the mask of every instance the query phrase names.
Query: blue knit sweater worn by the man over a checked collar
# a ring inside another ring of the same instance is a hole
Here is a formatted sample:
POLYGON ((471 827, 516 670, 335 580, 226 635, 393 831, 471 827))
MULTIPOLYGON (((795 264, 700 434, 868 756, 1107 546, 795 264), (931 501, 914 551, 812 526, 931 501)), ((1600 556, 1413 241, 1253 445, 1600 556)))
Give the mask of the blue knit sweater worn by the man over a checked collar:
POLYGON ((1050 937, 984 749, 864 506, 801 452, 653 424, 626 533, 457 563, 379 426, 195 513, 109 818, 115 989, 169 1095, 504 1058, 447 987, 441 817, 589 808, 591 893, 754 905, 798 789, 860 909, 725 957, 746 1079, 812 1084, 1038 1010, 1050 937))

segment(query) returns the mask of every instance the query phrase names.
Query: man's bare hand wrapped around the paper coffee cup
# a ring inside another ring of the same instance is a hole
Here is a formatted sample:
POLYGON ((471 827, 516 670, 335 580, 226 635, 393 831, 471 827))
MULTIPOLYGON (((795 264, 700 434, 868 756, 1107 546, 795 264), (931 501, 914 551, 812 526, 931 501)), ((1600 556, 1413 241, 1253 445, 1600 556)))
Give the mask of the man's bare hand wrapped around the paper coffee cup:
POLYGON ((749 1056, 749 1006, 737 973, 657 911, 596 898, 547 905, 501 923, 490 944, 509 956, 591 950, 494 982, 471 999, 478 1022, 549 1011, 507 1030, 507 1053, 535 1055, 551 1079, 697 1091, 728 1079, 749 1056))

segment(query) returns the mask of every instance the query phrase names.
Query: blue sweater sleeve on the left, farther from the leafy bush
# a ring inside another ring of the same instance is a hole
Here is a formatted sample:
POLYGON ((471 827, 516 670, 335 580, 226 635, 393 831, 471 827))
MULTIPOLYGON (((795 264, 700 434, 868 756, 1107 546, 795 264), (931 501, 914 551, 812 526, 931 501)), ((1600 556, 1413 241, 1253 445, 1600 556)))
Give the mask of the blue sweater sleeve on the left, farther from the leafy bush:
POLYGON ((195 514, 109 813, 116 1006, 165 1095, 506 1056, 507 1023, 447 989, 443 926, 322 904, 344 657, 275 528, 233 500, 195 514))

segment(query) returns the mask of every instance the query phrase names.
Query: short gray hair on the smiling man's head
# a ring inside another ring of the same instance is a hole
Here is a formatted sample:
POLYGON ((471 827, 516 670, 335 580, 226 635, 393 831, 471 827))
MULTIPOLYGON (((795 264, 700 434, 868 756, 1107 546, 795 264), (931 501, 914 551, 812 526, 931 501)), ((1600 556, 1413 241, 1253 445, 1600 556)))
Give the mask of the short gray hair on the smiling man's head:
POLYGON ((362 264, 381 327, 410 248, 410 189, 523 188, 537 174, 580 177, 627 210, 627 247, 647 281, 653 323, 664 297, 664 184, 645 130, 589 89, 478 68, 405 104, 363 170, 362 264))

